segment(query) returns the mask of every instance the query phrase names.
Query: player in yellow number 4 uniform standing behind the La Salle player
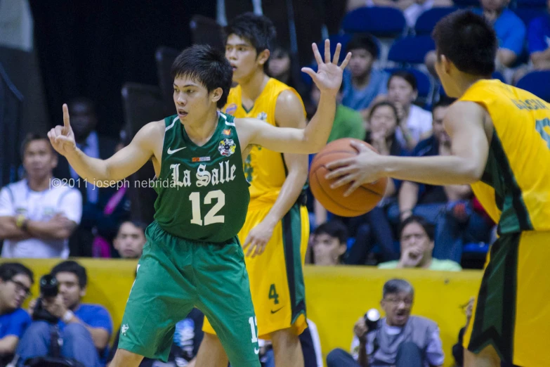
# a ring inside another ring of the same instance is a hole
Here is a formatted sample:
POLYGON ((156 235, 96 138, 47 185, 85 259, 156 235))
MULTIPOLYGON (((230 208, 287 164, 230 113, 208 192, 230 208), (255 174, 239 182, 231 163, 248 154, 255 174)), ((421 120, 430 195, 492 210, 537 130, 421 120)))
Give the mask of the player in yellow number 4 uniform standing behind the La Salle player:
MULTIPOLYGON (((228 25, 225 34, 225 57, 238 86, 230 90, 222 112, 278 127, 305 127, 306 111, 299 94, 264 72, 275 42, 273 23, 244 13, 228 25)), ((250 203, 239 238, 247 255, 258 337, 273 343, 277 366, 303 366, 299 335, 307 327, 302 270, 309 237, 304 191, 308 156, 254 146, 244 172, 251 185, 250 203)), ((227 366, 207 318, 203 330, 201 348, 212 356, 209 366, 227 366), (216 346, 221 353, 213 352, 216 346)))

